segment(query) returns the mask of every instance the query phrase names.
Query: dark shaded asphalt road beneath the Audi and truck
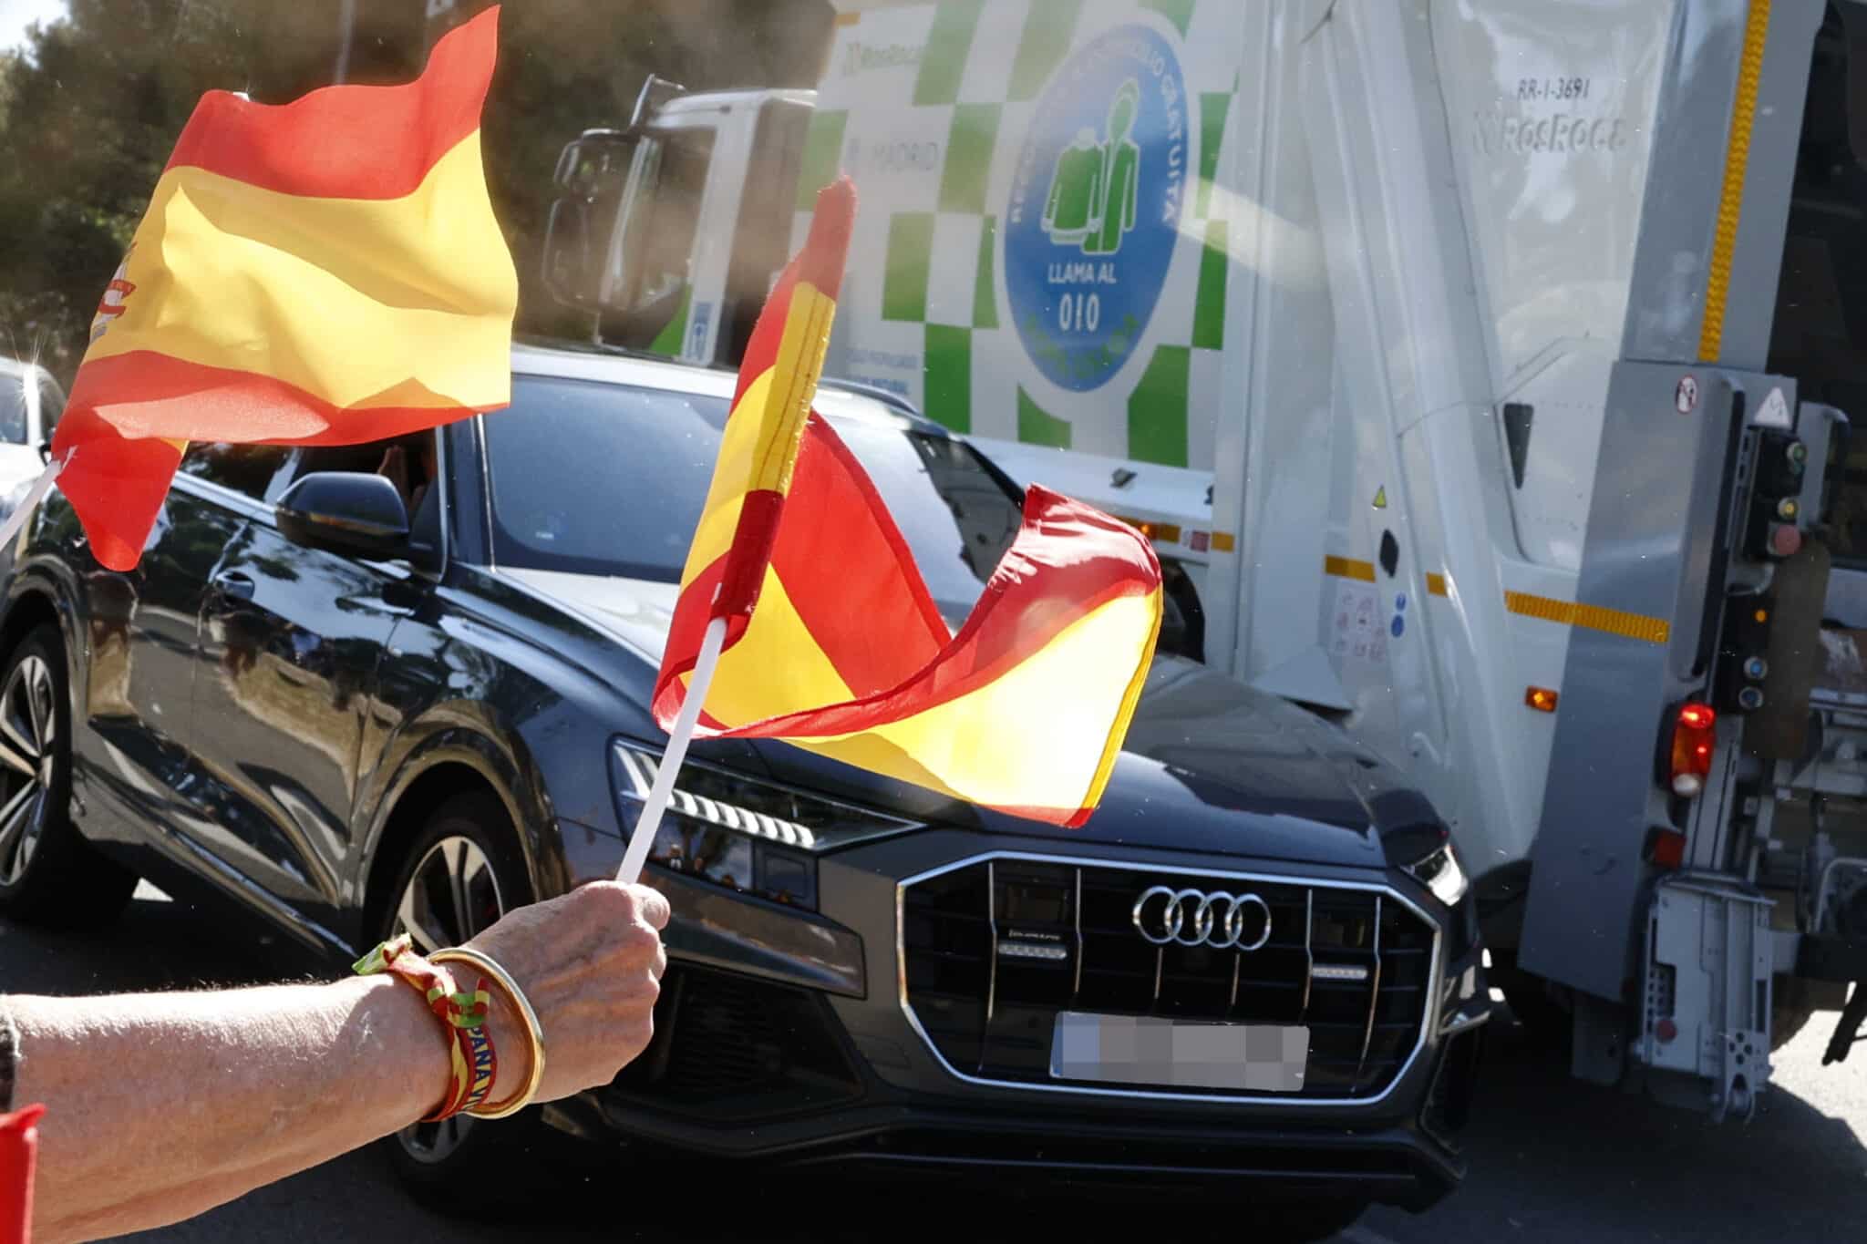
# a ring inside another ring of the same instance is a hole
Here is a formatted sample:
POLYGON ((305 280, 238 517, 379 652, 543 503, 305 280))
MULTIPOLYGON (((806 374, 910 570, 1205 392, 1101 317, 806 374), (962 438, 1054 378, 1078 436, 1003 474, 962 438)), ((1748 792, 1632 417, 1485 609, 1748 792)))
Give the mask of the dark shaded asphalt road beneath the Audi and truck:
MULTIPOLYGON (((215 951, 213 927, 140 893, 125 919, 88 938, 0 921, 0 988, 106 992, 260 979, 258 957, 215 951)), ((1471 1175, 1428 1214, 1372 1210, 1354 1244, 1759 1244, 1861 1238, 1867 1223, 1867 1050, 1822 1069, 1832 1016, 1817 1016, 1777 1054, 1777 1089, 1749 1125, 1697 1115, 1570 1082, 1509 1022, 1494 1024, 1471 1175)), ((192 1222, 125 1237, 142 1244, 235 1240, 1189 1240, 1249 1238, 1223 1212, 1193 1222, 1172 1207, 997 1203, 939 1196, 905 1203, 823 1190, 749 1184, 700 1169, 706 1194, 635 1184, 607 1171, 569 1175, 525 1220, 459 1222, 416 1205, 364 1149, 261 1188, 192 1222), (1036 1210, 1036 1214, 1032 1214, 1036 1210)))

